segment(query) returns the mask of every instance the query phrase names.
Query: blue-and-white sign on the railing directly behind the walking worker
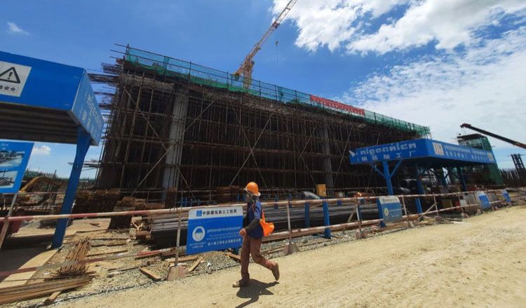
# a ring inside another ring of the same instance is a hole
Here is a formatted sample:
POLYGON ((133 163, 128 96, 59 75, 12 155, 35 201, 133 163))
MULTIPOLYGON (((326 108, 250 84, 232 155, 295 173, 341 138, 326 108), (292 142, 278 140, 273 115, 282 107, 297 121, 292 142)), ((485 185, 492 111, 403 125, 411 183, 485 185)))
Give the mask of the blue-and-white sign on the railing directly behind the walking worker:
POLYGON ((187 255, 241 247, 243 237, 239 236, 239 230, 242 227, 241 206, 190 210, 187 255))

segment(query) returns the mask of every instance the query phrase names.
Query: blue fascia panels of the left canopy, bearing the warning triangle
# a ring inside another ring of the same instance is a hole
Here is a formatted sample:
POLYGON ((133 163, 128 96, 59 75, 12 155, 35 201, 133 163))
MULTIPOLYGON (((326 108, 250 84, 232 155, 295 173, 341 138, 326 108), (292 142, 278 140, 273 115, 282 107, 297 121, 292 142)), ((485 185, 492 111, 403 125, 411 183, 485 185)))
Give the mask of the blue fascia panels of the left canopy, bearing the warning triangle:
POLYGON ((1 102, 65 112, 90 134, 93 145, 100 141, 102 114, 88 74, 80 67, 0 51, 1 102))

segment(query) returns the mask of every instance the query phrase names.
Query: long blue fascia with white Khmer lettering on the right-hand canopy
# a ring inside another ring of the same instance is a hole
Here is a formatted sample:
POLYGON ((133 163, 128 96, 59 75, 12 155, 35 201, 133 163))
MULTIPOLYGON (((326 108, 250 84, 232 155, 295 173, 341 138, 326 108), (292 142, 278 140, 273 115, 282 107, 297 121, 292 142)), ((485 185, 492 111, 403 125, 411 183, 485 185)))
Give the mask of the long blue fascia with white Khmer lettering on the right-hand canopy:
POLYGON ((462 147, 451 143, 417 139, 360 147, 351 152, 351 163, 374 163, 376 161, 393 161, 398 159, 440 158, 470 163, 495 163, 490 151, 462 147))

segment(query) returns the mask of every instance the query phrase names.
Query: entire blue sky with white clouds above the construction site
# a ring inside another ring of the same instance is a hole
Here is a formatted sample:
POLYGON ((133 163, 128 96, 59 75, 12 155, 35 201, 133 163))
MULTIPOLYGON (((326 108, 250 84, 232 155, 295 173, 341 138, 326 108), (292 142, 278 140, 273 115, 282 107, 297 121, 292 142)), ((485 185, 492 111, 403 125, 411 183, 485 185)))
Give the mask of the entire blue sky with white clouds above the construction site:
MULTIPOLYGON (((0 50, 93 72, 129 43, 232 72, 287 2, 19 0, 0 11, 0 50)), ((464 122, 525 142, 525 27, 520 0, 299 0, 253 76, 431 126, 446 142, 464 122)), ((491 142, 501 168, 526 152, 491 142)), ((68 176, 73 159, 72 145, 38 143, 29 166, 68 176)))

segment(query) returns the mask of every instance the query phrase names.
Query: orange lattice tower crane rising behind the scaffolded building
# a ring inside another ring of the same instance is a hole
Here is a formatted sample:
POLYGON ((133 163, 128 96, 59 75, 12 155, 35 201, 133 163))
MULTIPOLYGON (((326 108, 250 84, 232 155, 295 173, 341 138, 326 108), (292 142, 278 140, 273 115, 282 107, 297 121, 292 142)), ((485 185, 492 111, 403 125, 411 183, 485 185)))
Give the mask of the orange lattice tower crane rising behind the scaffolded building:
POLYGON ((272 32, 274 32, 278 27, 281 25, 281 22, 283 22, 283 19, 285 16, 290 12, 290 9, 292 6, 296 4, 298 0, 290 0, 283 8, 283 11, 278 15, 278 18, 272 22, 269 29, 267 29, 267 32, 263 34, 262 38, 257 41, 257 43, 252 47, 250 50, 250 53, 246 55, 245 59, 243 59, 243 62, 241 62, 241 66, 238 68, 238 70, 234 73, 234 76, 239 77, 240 75, 243 76, 243 87, 244 88, 250 88, 250 85, 252 84, 252 69, 254 67, 254 57, 257 54, 259 50, 263 47, 264 43, 269 39, 272 32))

